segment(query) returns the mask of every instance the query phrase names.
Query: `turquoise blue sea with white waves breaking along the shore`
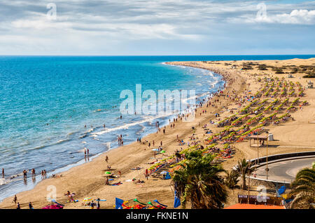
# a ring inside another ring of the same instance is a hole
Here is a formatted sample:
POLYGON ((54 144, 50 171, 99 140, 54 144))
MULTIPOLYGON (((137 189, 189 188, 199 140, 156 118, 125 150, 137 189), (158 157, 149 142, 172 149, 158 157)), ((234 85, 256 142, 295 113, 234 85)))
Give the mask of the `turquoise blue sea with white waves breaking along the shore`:
POLYGON ((165 62, 314 56, 0 56, 0 170, 5 172, 4 178, 0 172, 0 201, 33 189, 41 170, 50 177, 90 162, 118 147, 119 135, 130 144, 155 133, 157 121, 165 126, 180 113, 122 114, 123 90, 135 95, 140 84, 141 92, 157 95, 158 90, 195 90, 198 103, 225 83, 214 72, 165 62))

